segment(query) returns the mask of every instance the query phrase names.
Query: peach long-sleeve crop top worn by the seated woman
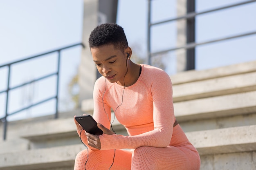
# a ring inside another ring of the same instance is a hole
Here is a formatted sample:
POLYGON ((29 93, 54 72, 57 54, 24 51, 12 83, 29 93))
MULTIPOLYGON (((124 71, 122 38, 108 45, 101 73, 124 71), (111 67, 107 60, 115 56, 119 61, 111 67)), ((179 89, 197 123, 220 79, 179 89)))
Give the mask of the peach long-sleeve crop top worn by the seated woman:
MULTIPOLYGON (((168 74, 145 64, 141 64, 141 75, 132 86, 110 83, 104 77, 97 79, 93 96, 94 119, 110 128, 112 108, 129 134, 100 135, 101 150, 191 145, 180 126, 173 128, 172 94, 168 74)), ((87 144, 83 133, 81 138, 87 144)))

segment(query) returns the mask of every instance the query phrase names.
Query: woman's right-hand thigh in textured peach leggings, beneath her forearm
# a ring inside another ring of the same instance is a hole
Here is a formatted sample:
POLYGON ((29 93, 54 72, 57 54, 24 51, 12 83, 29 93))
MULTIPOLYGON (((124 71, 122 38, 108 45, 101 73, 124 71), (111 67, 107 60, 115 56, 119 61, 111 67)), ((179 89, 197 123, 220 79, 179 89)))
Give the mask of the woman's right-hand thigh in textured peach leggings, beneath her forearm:
POLYGON ((132 170, 199 170, 200 157, 188 148, 140 147, 132 155, 132 170))

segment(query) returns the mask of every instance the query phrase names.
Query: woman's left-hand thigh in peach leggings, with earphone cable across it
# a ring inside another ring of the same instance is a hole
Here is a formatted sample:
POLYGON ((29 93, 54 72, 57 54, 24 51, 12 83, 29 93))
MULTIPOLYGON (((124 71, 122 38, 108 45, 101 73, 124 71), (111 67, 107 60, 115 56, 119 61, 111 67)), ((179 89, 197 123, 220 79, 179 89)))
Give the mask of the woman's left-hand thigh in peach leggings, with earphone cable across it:
POLYGON ((130 170, 131 157, 128 150, 89 150, 89 155, 88 150, 83 150, 76 155, 74 170, 106 170, 113 160, 111 170, 130 170))

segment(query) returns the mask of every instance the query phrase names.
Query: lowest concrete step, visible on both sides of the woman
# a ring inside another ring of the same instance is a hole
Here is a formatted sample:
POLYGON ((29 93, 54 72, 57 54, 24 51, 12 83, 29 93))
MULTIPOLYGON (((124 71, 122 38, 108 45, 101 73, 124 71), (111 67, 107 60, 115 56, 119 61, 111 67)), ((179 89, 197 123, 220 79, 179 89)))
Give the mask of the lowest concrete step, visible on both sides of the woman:
MULTIPOLYGON (((216 157, 216 155, 220 157, 220 155, 228 154, 236 156, 245 152, 255 156, 256 125, 187 132, 186 135, 202 157, 202 167, 204 168, 201 170, 210 170, 206 167, 216 166, 214 162, 209 165, 208 157, 216 157)), ((72 169, 76 154, 84 149, 86 148, 82 144, 76 144, 0 153, 0 170, 36 170, 42 167, 46 169, 70 167, 72 169), (24 157, 24 155, 26 156, 24 157)), ((256 158, 254 157, 254 159, 256 158)), ((228 163, 230 163, 229 161, 228 163)), ((227 160, 222 163, 224 164, 218 163, 218 166, 226 166, 227 160)))

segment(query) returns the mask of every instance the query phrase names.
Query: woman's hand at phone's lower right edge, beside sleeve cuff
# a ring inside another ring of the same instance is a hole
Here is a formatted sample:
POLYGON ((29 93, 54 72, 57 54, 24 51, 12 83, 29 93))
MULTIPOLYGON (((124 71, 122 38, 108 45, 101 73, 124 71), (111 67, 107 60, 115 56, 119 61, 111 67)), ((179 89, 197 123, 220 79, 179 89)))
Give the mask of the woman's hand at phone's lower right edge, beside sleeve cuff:
MULTIPOLYGON (((103 133, 105 133, 107 135, 113 135, 114 134, 114 132, 112 132, 108 128, 105 128, 105 126, 103 126, 100 123, 98 123, 97 126, 103 131, 103 133)), ((93 148, 96 148, 96 149, 99 149, 99 150, 101 149, 101 141, 99 140, 98 135, 92 135, 88 132, 85 132, 85 135, 88 138, 88 145, 89 146, 92 146, 93 148)))

